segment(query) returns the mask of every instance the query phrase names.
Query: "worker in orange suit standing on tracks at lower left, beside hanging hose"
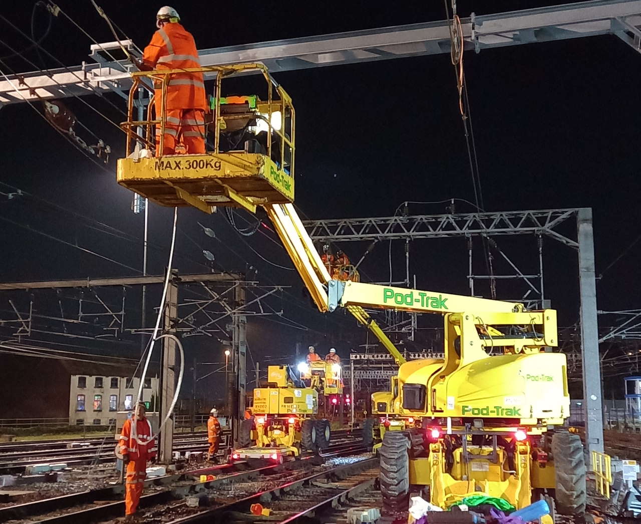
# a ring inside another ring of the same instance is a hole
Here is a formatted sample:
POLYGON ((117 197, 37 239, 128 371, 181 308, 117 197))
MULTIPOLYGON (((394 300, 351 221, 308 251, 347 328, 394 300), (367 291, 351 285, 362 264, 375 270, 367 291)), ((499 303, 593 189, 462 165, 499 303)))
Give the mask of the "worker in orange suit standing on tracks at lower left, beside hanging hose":
POLYGON ((151 423, 145 417, 145 405, 139 402, 136 405, 134 416, 122 424, 120 435, 120 452, 127 465, 125 480, 124 506, 127 520, 133 520, 133 515, 138 509, 140 495, 145 479, 147 478, 147 460, 156 459, 158 448, 156 439, 152 439, 151 423), (133 424, 135 421, 135 434, 133 424))

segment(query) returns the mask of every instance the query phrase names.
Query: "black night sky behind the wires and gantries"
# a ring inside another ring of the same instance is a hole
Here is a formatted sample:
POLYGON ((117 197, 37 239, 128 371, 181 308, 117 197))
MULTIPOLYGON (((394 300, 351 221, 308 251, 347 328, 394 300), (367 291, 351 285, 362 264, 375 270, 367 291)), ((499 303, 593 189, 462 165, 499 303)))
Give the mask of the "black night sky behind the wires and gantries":
MULTIPOLYGON (((58 4, 99 42, 113 40, 88 0, 62 0, 58 4)), ((99 4, 140 48, 146 46, 160 4, 99 4)), ((490 11, 490 3, 459 3, 458 12, 463 17, 472 11, 486 14, 552 3, 491 4, 490 11)), ((431 8, 419 2, 387 3, 381 8, 365 2, 324 3, 313 9, 303 3, 252 3, 235 10, 216 5, 172 4, 201 49, 444 19, 444 6, 438 2, 431 8)), ((32 8, 33 2, 29 1, 3 14, 28 33, 32 8)), ((0 40, 17 49, 28 46, 12 28, 0 23, 0 40)), ((44 10, 38 10, 36 35, 42 34, 45 24, 44 10)), ((90 41, 61 17, 54 19, 42 45, 64 64, 77 65, 87 59, 90 41)), ((1 42, 0 48, 2 55, 10 53, 1 42)), ((41 64, 34 51, 28 51, 26 57, 41 64)), ((51 58, 43 58, 44 65, 57 66, 51 58)), ((4 73, 10 72, 8 67, 16 72, 36 69, 22 58, 4 61, 4 73)), ((625 251, 597 284, 601 310, 640 306, 637 267, 641 243, 629 247, 641 233, 637 204, 641 189, 640 65, 638 53, 616 37, 528 44, 484 50, 478 55, 465 53, 485 209, 592 207, 597 274, 625 251)), ((449 55, 323 67, 275 76, 296 106, 296 204, 305 218, 390 216, 405 200, 474 201, 449 55)), ((121 98, 106 98, 124 109, 121 98)), ((95 96, 85 100, 116 122, 124 119, 104 100, 95 96)), ((67 99, 65 103, 79 121, 112 146, 112 159, 106 168, 113 171, 115 160, 124 151, 124 135, 79 100, 67 99)), ((15 222, 5 220, 0 225, 4 246, 0 281, 137 274, 132 268, 142 267, 139 241, 99 232, 87 226, 88 220, 74 218, 38 200, 55 202, 140 238, 143 218, 142 214, 131 213, 132 193, 116 184, 115 175, 83 157, 28 105, 4 107, 0 122, 0 181, 37 197, 8 199, 0 195, 0 217, 15 222), (26 225, 69 243, 77 242, 130 268, 28 231, 24 229, 26 225)), ((87 141, 91 139, 81 129, 78 134, 87 141)), ((0 186, 0 191, 11 193, 9 186, 0 186)), ((446 213, 446 205, 413 204, 410 213, 446 213)), ((474 209, 458 202, 456 211, 474 209)), ((240 215, 249 222, 254 220, 244 212, 240 215)), ((160 274, 167 263, 171 218, 171 209, 151 205, 150 241, 160 245, 159 249, 150 250, 151 274, 160 274)), ((202 249, 208 249, 215 254, 218 268, 246 272, 251 265, 258 268, 262 284, 292 286, 269 303, 276 310, 283 308, 286 317, 313 331, 288 329, 271 322, 269 317, 253 320, 249 342, 254 356, 292 355, 294 343, 303 340, 301 337, 305 342, 319 344, 320 353, 325 353, 329 344, 336 344, 339 353, 346 354, 353 344, 358 344, 362 332, 354 328, 352 320, 342 313, 329 319, 315 313, 299 277, 258 258, 233 231, 224 213, 206 216, 196 210, 180 209, 178 223, 174 265, 180 272, 208 272, 201 254, 202 249), (204 236, 197 222, 214 229, 220 240, 204 236)), ((243 240, 274 263, 292 267, 285 250, 266 238, 276 239, 275 234, 264 232, 243 240)), ((524 273, 537 272, 534 237, 498 238, 497 242, 524 273)), ((367 243, 346 243, 341 247, 354 260, 360 258, 367 243)), ((419 288, 469 293, 464 239, 415 241, 411 252, 410 272, 417 275, 419 288)), ((578 318, 576 254, 547 238, 544 252, 547 298, 559 310, 560 325, 571 326, 578 318)), ((476 269, 482 272, 480 244, 476 254, 476 269)), ((393 279, 403 279, 403 242, 392 245, 392 262, 393 279)), ((389 279, 387 243, 374 249, 362 269, 363 280, 389 279)), ((494 269, 497 274, 508 272, 508 267, 499 261, 495 261, 494 269)), ((499 281, 498 297, 515 298, 517 293, 520 296, 522 286, 512 285, 499 281)), ((478 284, 477 292, 488 296, 487 285, 478 284)), ((152 301, 156 303, 155 295, 152 301)), ((0 309, 7 307, 3 300, 0 309)), ((608 322, 610 319, 605 320, 608 322)), ((426 326, 439 323, 438 318, 424 321, 426 326)), ((219 346, 192 337, 187 350, 190 355, 212 360, 219 346)), ((2 359, 0 355, 0 362, 2 359)))

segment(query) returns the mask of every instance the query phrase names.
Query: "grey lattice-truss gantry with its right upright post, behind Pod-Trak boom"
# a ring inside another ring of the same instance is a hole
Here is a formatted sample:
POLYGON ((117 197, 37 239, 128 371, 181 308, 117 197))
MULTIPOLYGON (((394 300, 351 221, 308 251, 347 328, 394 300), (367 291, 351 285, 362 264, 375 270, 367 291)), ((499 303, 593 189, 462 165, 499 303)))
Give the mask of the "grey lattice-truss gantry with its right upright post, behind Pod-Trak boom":
MULTIPOLYGON (((588 450, 603 452, 601 369, 599 368, 591 208, 336 218, 307 220, 303 223, 312 239, 319 242, 408 241, 426 238, 535 234, 549 236, 575 249, 578 253, 581 299, 583 394, 587 405, 586 443, 588 450), (568 236, 569 227, 576 231, 576 240, 568 236)), ((526 279, 526 275, 517 276, 526 279)))

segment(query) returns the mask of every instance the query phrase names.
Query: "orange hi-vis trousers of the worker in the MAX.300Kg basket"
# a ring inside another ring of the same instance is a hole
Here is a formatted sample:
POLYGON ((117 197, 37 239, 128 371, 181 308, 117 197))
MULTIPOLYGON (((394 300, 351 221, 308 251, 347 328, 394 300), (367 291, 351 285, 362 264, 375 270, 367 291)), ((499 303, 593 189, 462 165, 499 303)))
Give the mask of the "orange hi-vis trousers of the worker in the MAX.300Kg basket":
MULTIPOLYGON (((160 131, 160 125, 156 125, 156 151, 160 148, 160 131)), ((204 110, 167 110, 162 154, 175 155, 180 141, 185 144, 187 154, 204 155, 204 110)))

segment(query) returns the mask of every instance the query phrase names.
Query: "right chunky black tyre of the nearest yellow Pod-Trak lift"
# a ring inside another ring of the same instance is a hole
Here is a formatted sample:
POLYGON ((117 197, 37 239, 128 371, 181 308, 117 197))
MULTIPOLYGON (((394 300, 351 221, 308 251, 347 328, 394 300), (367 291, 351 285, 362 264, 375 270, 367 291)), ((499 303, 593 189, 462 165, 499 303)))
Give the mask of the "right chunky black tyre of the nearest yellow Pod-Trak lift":
POLYGON ((581 438, 575 433, 558 432, 552 435, 552 456, 556 487, 556 511, 562 515, 585 513, 585 457, 581 438))

